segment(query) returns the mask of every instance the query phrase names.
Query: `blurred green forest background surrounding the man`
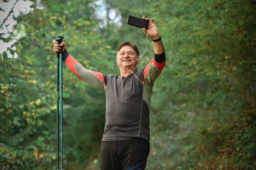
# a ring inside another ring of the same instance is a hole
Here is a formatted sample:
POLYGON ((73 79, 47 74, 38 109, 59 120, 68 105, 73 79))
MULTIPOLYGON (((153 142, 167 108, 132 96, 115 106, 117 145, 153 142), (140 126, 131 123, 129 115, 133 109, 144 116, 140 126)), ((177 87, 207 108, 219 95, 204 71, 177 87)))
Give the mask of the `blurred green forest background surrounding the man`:
MULTIPOLYGON (((135 42, 141 54, 146 46, 128 14, 154 18, 166 52, 152 92, 146 169, 255 170, 255 9, 256 0, 2 1, 0 170, 57 169, 52 41, 64 35, 84 67, 119 75, 118 44, 135 42)), ((148 40, 139 68, 152 57, 148 40)), ((100 170, 105 94, 65 64, 63 73, 64 169, 100 170)))

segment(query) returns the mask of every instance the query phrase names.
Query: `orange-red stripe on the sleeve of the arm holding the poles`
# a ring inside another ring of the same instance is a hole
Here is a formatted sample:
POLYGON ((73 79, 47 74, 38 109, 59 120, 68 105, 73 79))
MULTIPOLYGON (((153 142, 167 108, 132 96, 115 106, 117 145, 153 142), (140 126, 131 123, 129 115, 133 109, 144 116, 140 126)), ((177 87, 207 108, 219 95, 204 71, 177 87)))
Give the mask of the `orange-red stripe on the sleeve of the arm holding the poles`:
MULTIPOLYGON (((76 72, 75 70, 75 64, 79 64, 81 65, 77 60, 74 59, 74 57, 72 57, 71 55, 69 55, 65 61, 66 65, 69 67, 69 70, 71 70, 77 77, 79 77, 79 79, 83 80, 84 82, 86 82, 84 79, 82 79, 76 72)), ((82 66, 82 65, 81 65, 82 66)), ((82 66, 84 68, 84 66, 82 66)), ((87 70, 86 68, 84 68, 84 70, 87 70)), ((92 74, 94 74, 96 77, 98 77, 103 83, 104 83, 104 87, 105 86, 105 82, 104 82, 104 78, 101 72, 96 72, 96 71, 92 71, 92 70, 87 70, 92 72, 92 74)), ((87 82, 88 83, 88 82, 87 82)))

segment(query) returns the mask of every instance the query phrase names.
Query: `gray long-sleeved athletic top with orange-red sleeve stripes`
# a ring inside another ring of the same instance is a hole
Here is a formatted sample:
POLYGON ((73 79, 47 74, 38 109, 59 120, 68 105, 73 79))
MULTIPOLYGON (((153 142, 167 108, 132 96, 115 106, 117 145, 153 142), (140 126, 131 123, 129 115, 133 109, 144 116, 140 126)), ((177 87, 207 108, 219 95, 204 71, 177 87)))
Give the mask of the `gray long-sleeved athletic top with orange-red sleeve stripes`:
POLYGON ((85 69, 67 51, 63 60, 77 77, 106 94, 106 123, 102 141, 144 138, 149 141, 149 110, 154 81, 165 65, 165 53, 128 77, 85 69))

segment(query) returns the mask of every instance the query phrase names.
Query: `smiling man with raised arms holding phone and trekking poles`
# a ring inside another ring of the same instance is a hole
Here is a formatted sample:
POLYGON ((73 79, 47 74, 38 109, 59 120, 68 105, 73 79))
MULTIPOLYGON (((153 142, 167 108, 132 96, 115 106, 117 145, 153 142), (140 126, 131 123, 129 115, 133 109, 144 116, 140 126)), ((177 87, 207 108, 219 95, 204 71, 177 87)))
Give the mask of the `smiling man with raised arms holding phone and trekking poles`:
POLYGON ((54 52, 63 47, 63 61, 81 80, 106 95, 106 123, 100 149, 102 170, 144 170, 149 154, 149 110, 154 81, 165 65, 164 46, 155 20, 143 32, 152 39, 154 58, 137 71, 139 51, 132 42, 118 46, 116 61, 120 75, 84 68, 54 40, 54 52))

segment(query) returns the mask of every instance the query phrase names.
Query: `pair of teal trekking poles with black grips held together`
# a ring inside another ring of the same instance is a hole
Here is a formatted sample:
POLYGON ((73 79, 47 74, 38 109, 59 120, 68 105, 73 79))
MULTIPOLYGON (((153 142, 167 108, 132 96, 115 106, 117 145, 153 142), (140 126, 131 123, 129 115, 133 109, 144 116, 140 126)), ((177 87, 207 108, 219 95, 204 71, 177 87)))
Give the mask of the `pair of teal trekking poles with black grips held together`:
MULTIPOLYGON (((58 36, 55 39, 58 44, 62 42, 63 36, 58 36)), ((58 155, 58 169, 59 170, 59 63, 61 65, 61 170, 63 170, 63 125, 62 125, 62 47, 60 52, 57 52, 57 155, 58 155), (60 59, 60 60, 59 60, 60 59)))

